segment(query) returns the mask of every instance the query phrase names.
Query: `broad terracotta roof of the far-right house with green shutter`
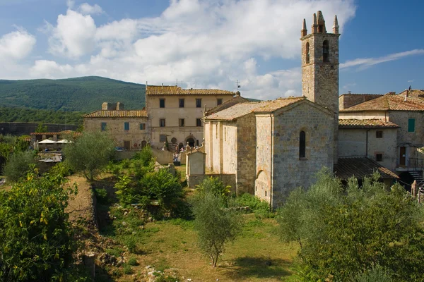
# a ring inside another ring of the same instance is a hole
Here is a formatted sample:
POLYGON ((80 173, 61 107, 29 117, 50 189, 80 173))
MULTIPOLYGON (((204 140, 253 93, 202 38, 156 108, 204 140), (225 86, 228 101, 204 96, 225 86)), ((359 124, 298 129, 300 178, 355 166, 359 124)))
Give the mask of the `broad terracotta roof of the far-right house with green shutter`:
POLYGON ((385 94, 382 97, 372 99, 350 108, 340 110, 346 111, 424 111, 424 100, 407 98, 396 94, 385 94))

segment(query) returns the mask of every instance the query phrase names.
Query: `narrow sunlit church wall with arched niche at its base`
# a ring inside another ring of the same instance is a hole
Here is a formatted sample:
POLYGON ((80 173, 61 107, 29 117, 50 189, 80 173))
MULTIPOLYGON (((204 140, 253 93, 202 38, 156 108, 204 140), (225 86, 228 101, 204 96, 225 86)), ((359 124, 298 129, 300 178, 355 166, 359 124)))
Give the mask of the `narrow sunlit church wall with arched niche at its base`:
MULTIPOLYGON (((271 157, 273 154, 273 118, 269 114, 257 114, 257 168, 255 177, 255 188, 254 195, 259 197, 261 200, 266 202, 271 202, 271 171, 272 171, 272 161, 271 157)), ((283 173, 282 171, 279 173, 283 173)))

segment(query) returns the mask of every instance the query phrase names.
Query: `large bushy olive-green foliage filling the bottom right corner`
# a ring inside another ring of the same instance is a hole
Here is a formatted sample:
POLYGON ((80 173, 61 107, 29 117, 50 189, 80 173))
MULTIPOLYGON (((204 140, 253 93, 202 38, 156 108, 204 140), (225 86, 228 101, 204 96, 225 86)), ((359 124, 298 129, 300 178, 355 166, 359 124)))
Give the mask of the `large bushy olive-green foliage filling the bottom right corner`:
POLYGON ((343 190, 327 170, 309 190, 290 193, 278 221, 283 239, 300 245, 300 281, 349 281, 376 265, 394 281, 424 281, 423 208, 378 179, 360 187, 352 178, 343 190))

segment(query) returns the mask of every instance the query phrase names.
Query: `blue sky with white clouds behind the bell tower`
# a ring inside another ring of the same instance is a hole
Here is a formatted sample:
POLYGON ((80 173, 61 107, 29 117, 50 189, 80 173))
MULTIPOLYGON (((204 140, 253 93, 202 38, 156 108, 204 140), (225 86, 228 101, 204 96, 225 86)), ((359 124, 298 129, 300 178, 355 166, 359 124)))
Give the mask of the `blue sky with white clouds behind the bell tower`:
MULTIPOLYGON (((340 94, 424 89, 422 0, 0 0, 0 79, 98 75, 300 96, 300 30, 340 25, 340 94)), ((0 102, 1 104, 1 102, 0 102)))

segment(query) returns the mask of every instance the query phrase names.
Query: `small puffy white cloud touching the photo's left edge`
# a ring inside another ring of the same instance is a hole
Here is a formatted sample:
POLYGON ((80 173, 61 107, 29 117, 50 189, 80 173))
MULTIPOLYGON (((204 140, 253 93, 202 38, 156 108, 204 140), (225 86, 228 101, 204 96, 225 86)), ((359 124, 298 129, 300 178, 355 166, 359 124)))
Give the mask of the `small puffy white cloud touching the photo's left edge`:
POLYGON ((18 28, 0 37, 0 61, 24 59, 30 54, 37 40, 26 30, 18 28))

